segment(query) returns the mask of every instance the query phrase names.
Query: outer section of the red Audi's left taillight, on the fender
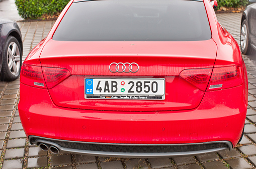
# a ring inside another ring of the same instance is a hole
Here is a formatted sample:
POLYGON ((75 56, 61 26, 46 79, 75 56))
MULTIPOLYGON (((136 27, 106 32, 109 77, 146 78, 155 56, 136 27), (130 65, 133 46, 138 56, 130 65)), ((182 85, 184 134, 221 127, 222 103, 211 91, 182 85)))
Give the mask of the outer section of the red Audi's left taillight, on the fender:
POLYGON ((41 66, 22 64, 20 82, 34 87, 46 88, 41 66))

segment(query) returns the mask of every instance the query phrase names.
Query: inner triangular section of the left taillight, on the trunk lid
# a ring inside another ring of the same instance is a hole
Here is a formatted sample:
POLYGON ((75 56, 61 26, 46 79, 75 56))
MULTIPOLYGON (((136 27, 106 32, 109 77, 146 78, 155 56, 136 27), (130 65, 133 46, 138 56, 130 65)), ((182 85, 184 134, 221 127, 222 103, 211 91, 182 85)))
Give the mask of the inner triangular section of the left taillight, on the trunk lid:
POLYGON ((67 78, 70 72, 65 68, 43 67, 43 74, 47 88, 50 89, 67 78))

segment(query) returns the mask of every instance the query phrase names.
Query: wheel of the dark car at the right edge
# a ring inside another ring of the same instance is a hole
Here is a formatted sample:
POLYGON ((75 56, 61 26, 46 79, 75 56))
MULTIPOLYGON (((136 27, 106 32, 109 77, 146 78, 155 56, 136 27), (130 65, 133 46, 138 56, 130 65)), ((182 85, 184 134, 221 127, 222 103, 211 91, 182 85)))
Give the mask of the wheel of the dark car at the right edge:
POLYGON ((244 19, 241 25, 241 36, 240 36, 240 47, 243 54, 251 54, 252 48, 250 46, 250 39, 249 39, 249 26, 247 20, 244 19))

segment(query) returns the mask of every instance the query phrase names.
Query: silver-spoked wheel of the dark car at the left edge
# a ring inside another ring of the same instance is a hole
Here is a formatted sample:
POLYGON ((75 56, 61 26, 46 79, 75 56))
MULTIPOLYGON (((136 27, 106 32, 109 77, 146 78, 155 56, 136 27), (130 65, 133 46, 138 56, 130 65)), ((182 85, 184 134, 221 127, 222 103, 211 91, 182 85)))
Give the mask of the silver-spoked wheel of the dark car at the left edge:
POLYGON ((3 53, 1 80, 11 81, 19 77, 22 65, 21 46, 14 36, 6 40, 3 53))

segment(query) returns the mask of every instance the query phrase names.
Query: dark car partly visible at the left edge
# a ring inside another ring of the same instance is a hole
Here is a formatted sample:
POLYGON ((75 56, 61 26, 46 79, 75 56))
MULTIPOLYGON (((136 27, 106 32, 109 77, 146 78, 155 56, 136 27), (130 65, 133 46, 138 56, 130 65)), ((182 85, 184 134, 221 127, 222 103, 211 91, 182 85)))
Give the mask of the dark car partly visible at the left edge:
POLYGON ((15 80, 22 65, 22 35, 18 24, 0 18, 0 79, 15 80))

